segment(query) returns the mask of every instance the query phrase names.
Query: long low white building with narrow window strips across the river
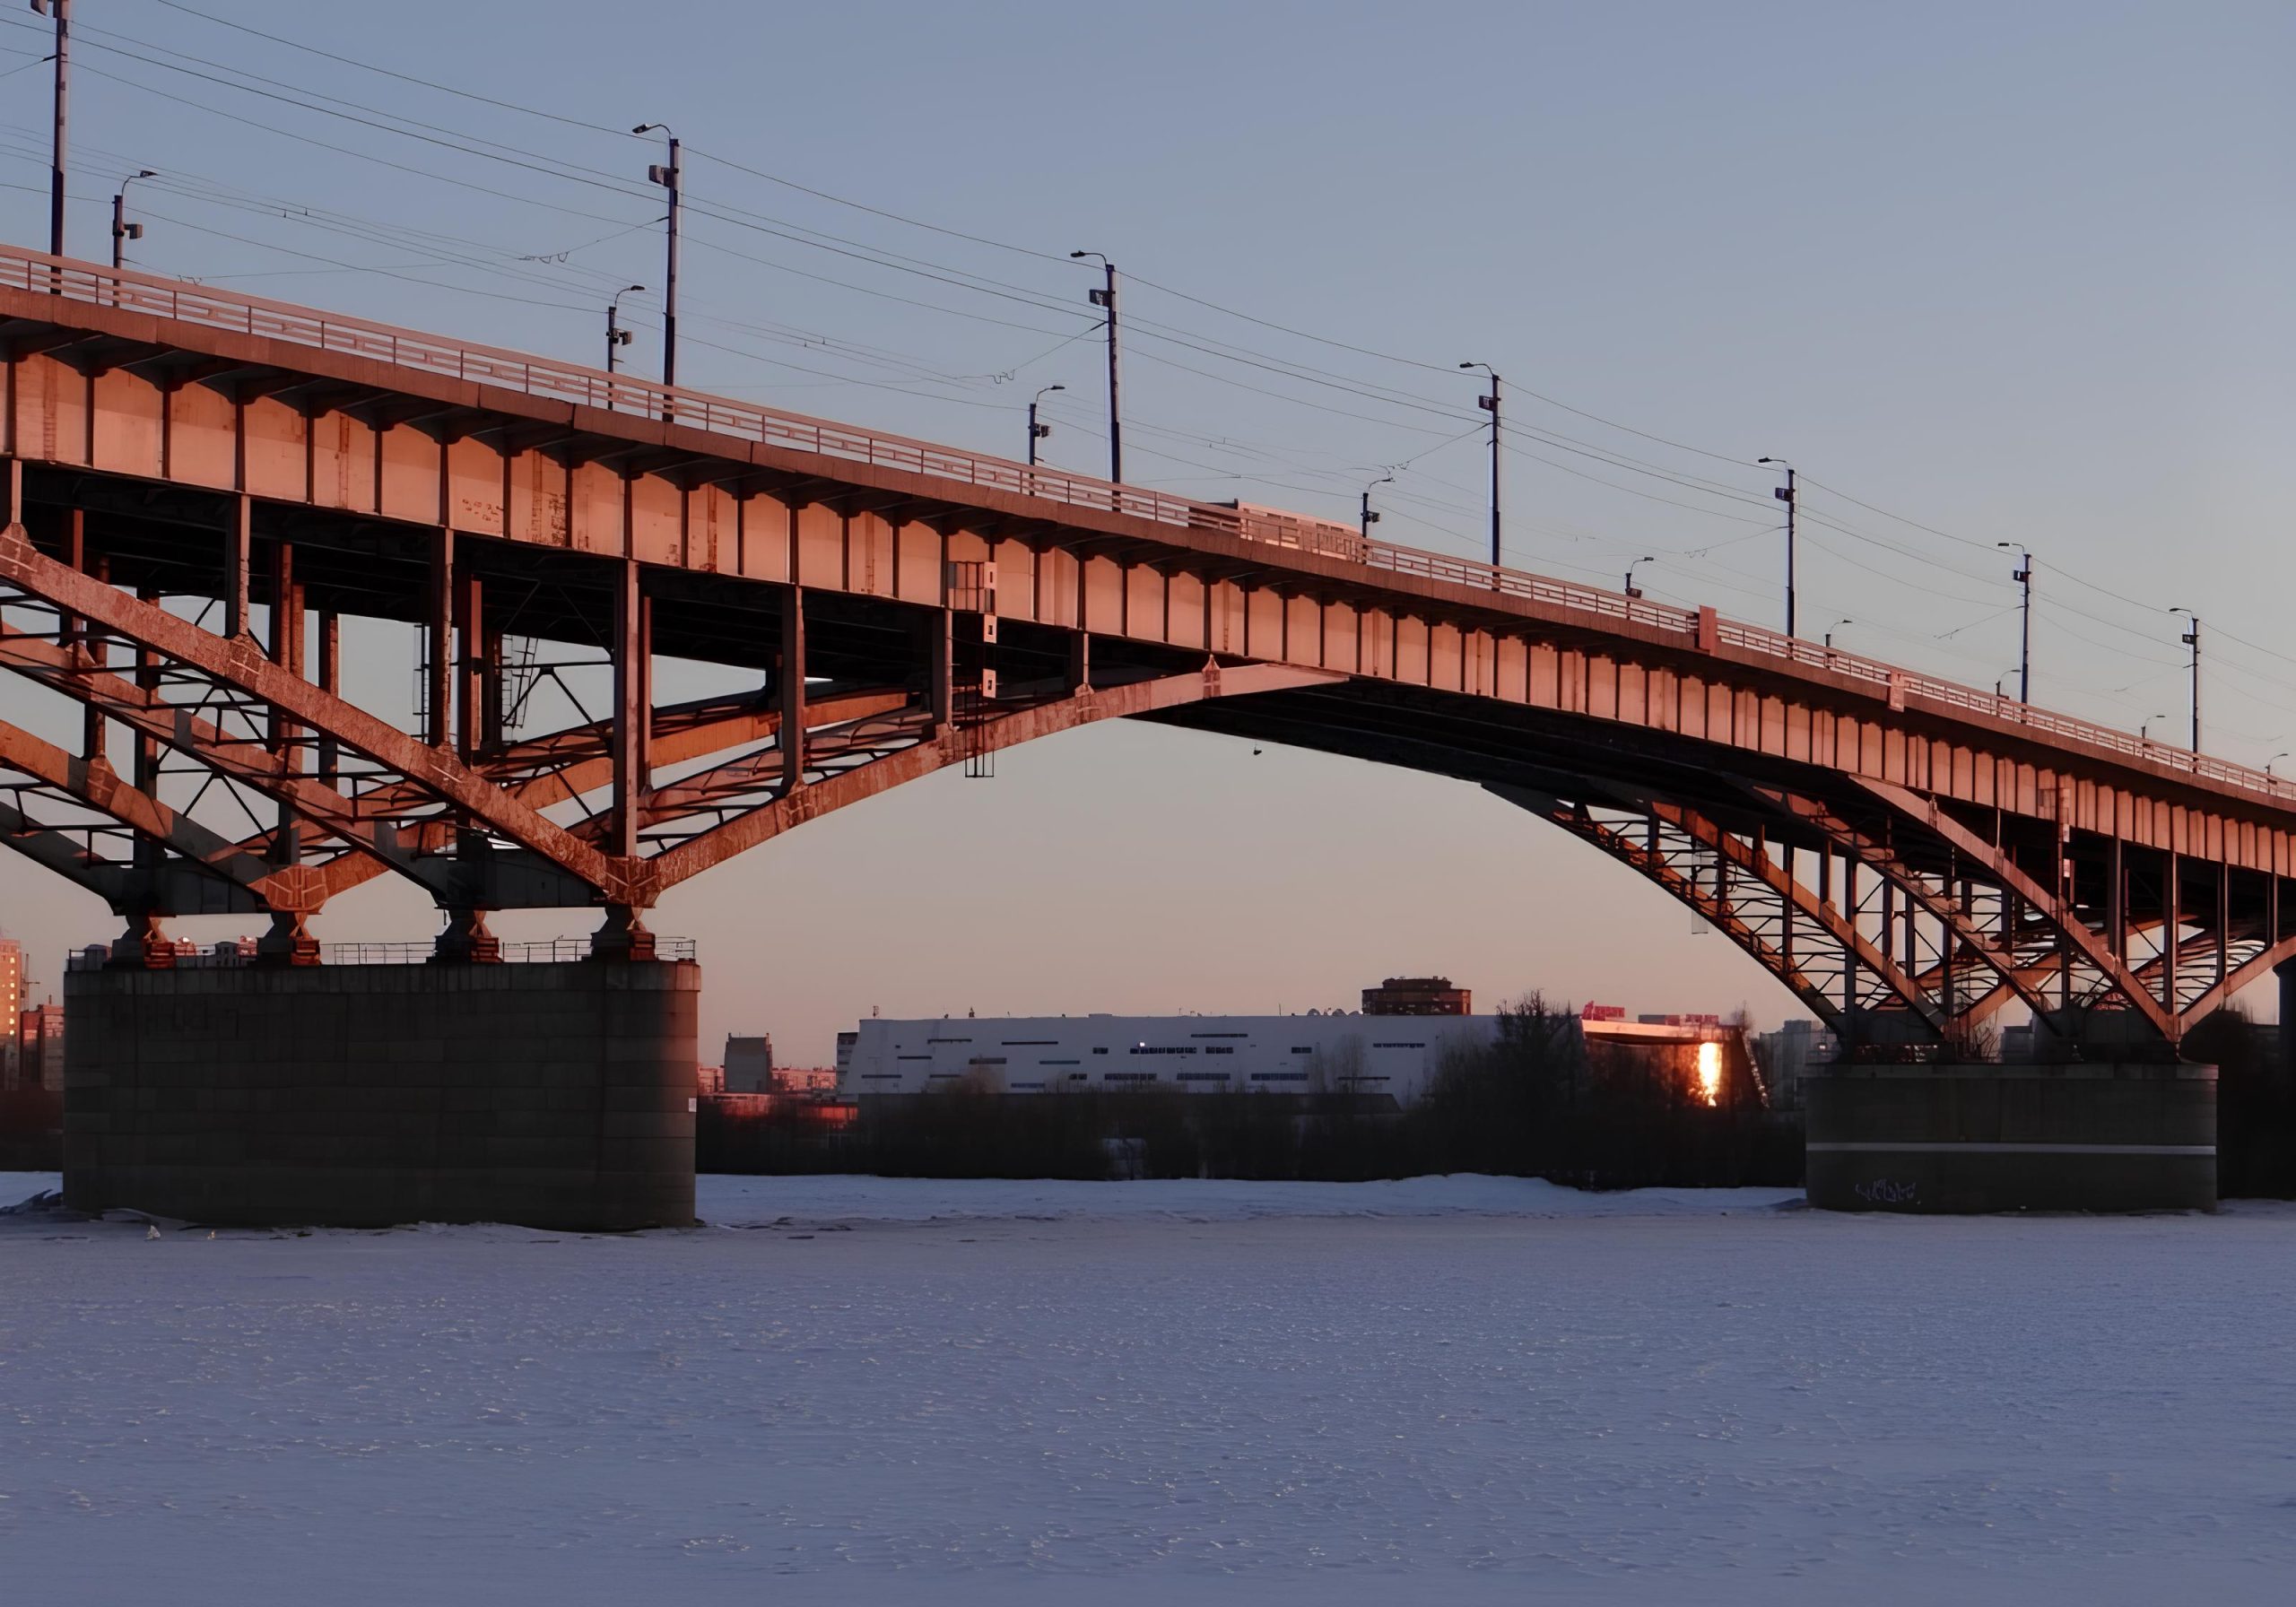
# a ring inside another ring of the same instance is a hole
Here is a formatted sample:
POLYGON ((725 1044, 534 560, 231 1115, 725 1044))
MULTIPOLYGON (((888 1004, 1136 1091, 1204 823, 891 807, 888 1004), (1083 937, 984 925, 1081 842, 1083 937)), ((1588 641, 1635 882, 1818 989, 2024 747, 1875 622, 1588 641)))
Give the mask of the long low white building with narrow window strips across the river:
POLYGON ((1387 1093, 1407 1104, 1449 1045, 1481 1047, 1495 1015, 1017 1015, 889 1022, 838 1033, 847 1095, 971 1079, 1001 1093, 1387 1093), (847 1042, 850 1038, 850 1042, 847 1042))

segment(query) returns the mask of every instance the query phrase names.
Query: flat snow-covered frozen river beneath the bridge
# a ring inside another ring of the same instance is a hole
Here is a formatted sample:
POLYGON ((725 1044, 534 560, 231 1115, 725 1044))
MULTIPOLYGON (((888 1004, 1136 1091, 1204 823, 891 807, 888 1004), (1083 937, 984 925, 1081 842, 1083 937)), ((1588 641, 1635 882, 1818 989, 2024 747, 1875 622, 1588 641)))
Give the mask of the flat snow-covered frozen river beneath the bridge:
POLYGON ((0 1217, 0 1600, 2296 1593, 2287 1208, 700 1198, 634 1237, 0 1217))

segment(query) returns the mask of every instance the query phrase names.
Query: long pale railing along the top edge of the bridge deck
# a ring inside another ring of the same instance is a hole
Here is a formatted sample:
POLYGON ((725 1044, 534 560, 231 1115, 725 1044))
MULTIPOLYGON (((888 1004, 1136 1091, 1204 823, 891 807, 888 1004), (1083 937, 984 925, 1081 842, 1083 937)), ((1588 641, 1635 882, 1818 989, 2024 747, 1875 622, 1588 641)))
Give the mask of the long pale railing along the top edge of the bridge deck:
MULTIPOLYGON (((1598 624, 1635 624, 1681 636, 1685 641, 1694 641, 1699 634, 1699 613, 1694 608, 1674 608, 1667 604, 1626 597, 1621 592, 1607 592, 1596 585, 1554 581, 1522 569, 1502 569, 1474 558, 1453 558, 1417 546, 1396 546, 1394 542, 1366 537, 1343 523, 1279 514, 1272 510, 1240 510, 1224 507, 1219 503, 1196 503, 1166 491, 1150 491, 1134 484, 1111 484, 1107 480, 1093 480, 1091 475, 1072 475, 1063 468, 1042 468, 1019 464, 1008 457, 964 452, 932 441, 889 436, 875 429, 806 418, 804 413, 785 413, 755 402, 735 402, 730 397, 714 397, 682 386, 657 386, 629 374, 608 374, 604 370, 583 367, 581 363, 558 363, 553 358, 537 358, 523 351, 445 340, 441 335, 425 335, 393 324, 374 324, 370 319, 340 317, 285 301, 264 301, 259 296, 209 289, 207 285, 188 285, 184 280, 135 273, 133 269, 108 269, 94 262, 78 262, 73 257, 48 257, 37 250, 0 246, 0 287, 44 292, 62 296, 64 301, 152 312, 184 324, 200 324, 241 335, 262 335, 319 351, 374 358, 379 363, 413 367, 427 374, 445 374, 535 397, 576 402, 581 406, 595 406, 611 413, 627 413, 631 418, 691 425, 693 429, 739 441, 755 441, 760 445, 815 452, 820 457, 836 457, 877 468, 900 468, 916 475, 930 475, 934 480, 955 480, 969 487, 1013 491, 1049 503, 1063 503, 1068 507, 1104 510, 1185 530, 1212 530, 1247 542, 1265 542, 1270 546, 1286 546, 1320 558, 1357 562, 1387 574, 1444 581, 1451 585, 1497 592, 1502 597, 1520 597, 1554 608, 1568 608, 1573 613, 1591 615, 1589 622, 1598 624)), ((2066 714, 2034 709, 2016 698, 2000 698, 1956 682, 1915 675, 1878 659, 1860 659, 1857 654, 1837 652, 1821 643, 1784 636, 1782 631, 1768 631, 1756 624, 1720 620, 1717 634, 1720 643, 1727 647, 1782 659, 1807 670, 1844 675, 1876 689, 1883 696, 1917 698, 1956 712, 2009 721, 2055 739, 2082 742, 2131 760, 2188 771, 2216 785, 2241 787, 2259 797, 2296 799, 2296 783, 2268 776, 2266 771, 2213 760, 2186 748, 2149 742, 2144 737, 2131 737, 2128 732, 2110 725, 2096 725, 2066 714)))

